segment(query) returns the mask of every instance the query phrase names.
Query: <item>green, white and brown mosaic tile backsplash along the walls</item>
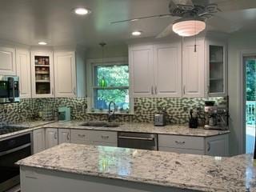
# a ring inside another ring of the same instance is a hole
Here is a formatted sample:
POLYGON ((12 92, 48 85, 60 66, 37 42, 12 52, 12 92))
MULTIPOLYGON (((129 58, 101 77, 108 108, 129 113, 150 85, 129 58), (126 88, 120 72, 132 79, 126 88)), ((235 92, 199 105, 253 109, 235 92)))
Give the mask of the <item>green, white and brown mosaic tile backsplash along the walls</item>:
MULTIPOLYGON (((134 98, 134 114, 116 115, 116 122, 153 122, 159 107, 166 107, 169 123, 188 122, 190 109, 198 108, 203 118, 204 98, 134 98)), ((226 105, 226 98, 208 98, 226 105)), ((87 114, 86 98, 28 98, 0 105, 1 122, 16 123, 54 116, 58 106, 69 106, 73 120, 106 120, 106 114, 87 114)))

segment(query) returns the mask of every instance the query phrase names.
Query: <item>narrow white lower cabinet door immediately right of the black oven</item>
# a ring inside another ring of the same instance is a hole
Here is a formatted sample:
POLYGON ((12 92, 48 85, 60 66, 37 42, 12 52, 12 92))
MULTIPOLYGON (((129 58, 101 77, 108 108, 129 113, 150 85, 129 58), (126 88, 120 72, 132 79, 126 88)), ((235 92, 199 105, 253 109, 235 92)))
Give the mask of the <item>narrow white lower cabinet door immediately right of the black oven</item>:
POLYGON ((34 130, 33 131, 33 151, 34 154, 45 150, 45 130, 44 129, 39 129, 39 130, 34 130))

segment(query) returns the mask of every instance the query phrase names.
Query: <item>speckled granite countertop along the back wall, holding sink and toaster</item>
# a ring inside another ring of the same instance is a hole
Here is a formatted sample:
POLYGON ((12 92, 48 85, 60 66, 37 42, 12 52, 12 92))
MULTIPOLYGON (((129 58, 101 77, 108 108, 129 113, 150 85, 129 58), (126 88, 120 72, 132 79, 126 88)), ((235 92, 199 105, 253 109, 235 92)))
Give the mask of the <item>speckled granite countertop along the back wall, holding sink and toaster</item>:
POLYGON ((69 129, 83 129, 83 130, 112 130, 112 131, 126 131, 138 133, 152 133, 152 134, 176 134, 186 136, 200 136, 210 137, 218 134, 228 134, 230 130, 205 130, 202 127, 198 129, 190 129, 187 125, 167 125, 154 126, 151 123, 134 123, 123 122, 118 127, 95 127, 95 126, 81 126, 84 122, 70 121, 70 122, 54 122, 45 127, 51 128, 69 128, 69 129))

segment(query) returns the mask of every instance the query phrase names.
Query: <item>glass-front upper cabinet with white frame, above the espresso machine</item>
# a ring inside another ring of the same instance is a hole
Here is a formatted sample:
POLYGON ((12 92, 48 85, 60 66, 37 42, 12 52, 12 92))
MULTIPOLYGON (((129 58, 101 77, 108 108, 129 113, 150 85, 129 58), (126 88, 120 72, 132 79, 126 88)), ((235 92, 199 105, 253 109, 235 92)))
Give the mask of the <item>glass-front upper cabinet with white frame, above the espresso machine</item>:
POLYGON ((226 45, 208 41, 207 53, 207 96, 224 97, 227 94, 226 45))

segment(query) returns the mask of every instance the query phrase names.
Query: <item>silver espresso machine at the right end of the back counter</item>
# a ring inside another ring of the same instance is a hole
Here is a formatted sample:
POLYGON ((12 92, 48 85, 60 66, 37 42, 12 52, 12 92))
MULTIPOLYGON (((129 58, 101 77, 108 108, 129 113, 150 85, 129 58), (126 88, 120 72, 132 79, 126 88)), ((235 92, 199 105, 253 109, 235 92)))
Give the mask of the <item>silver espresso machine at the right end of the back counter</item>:
POLYGON ((226 106, 205 106, 206 130, 228 130, 226 106))

